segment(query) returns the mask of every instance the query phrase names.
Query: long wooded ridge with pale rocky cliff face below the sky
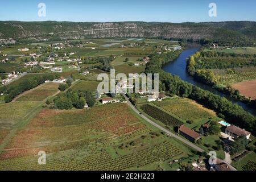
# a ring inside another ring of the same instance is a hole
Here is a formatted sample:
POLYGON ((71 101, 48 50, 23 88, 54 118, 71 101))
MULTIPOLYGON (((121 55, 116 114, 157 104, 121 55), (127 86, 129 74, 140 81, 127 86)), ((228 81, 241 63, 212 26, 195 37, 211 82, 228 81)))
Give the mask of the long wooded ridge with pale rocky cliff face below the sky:
POLYGON ((49 39, 111 37, 201 40, 216 38, 218 31, 219 28, 207 23, 0 22, 1 39, 30 39, 35 42, 49 39))

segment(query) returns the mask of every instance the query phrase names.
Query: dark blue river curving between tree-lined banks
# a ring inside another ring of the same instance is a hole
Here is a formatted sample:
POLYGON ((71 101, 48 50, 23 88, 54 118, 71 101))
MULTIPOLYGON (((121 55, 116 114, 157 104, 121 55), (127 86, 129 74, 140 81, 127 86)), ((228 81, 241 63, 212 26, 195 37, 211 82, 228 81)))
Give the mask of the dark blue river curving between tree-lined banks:
POLYGON ((240 105, 246 111, 249 111, 251 114, 256 115, 256 110, 247 106, 241 101, 236 101, 232 97, 224 94, 222 92, 218 92, 216 89, 213 89, 209 85, 202 84, 201 82, 195 81, 193 77, 189 76, 186 70, 186 59, 193 55, 195 52, 199 51, 200 47, 191 47, 185 49, 176 60, 171 61, 163 66, 163 70, 165 72, 171 73, 172 75, 179 76, 182 80, 190 82, 193 85, 196 85, 204 90, 209 90, 210 92, 217 94, 218 96, 225 97, 227 100, 233 102, 234 104, 240 105))

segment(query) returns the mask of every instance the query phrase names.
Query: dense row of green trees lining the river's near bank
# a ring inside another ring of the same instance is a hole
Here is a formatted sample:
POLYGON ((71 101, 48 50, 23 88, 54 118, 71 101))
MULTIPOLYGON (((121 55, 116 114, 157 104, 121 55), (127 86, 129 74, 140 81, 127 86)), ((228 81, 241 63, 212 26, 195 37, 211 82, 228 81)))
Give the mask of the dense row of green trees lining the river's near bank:
MULTIPOLYGON (((177 56, 175 52, 167 53, 167 55, 171 54, 174 57, 177 56)), ((159 80, 165 85, 162 88, 165 88, 170 94, 191 98, 209 109, 212 109, 217 113, 221 113, 230 123, 255 133, 256 118, 243 110, 241 106, 235 105, 224 97, 220 97, 207 90, 200 89, 197 86, 181 80, 177 76, 172 76, 170 73, 162 71, 162 64, 171 60, 164 59, 172 56, 163 55, 163 57, 161 57, 161 55, 152 55, 150 64, 147 64, 146 73, 159 73, 159 80)))

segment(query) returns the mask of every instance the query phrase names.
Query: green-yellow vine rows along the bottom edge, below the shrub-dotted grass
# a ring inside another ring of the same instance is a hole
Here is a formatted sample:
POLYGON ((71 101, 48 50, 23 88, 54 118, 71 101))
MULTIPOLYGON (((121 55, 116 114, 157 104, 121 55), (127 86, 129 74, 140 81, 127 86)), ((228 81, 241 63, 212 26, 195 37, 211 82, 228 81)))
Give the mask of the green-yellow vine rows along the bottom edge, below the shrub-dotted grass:
POLYGON ((176 159, 182 156, 183 151, 172 145, 170 142, 163 142, 158 145, 136 152, 135 154, 118 156, 112 158, 106 150, 94 152, 90 155, 79 155, 73 152, 65 152, 49 156, 46 165, 38 165, 37 158, 15 158, 2 160, 2 170, 122 170, 130 167, 143 167, 147 164, 159 162, 160 160, 176 159), (65 157, 64 157, 65 156, 65 157))

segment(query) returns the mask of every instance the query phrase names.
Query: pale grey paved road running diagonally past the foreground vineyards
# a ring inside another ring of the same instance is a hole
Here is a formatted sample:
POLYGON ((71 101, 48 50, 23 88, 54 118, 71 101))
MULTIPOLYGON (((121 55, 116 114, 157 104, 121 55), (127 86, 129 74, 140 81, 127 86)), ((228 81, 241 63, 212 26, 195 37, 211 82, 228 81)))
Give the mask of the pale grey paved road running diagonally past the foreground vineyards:
MULTIPOLYGON (((204 150, 198 146, 196 146, 195 144, 189 142, 188 140, 185 140, 184 138, 181 138, 179 137, 178 135, 176 135, 175 133, 172 133, 170 130, 167 130, 165 129, 164 127, 158 125, 157 123, 155 123, 154 121, 152 121, 151 119, 148 119, 145 115, 143 115, 139 110, 137 110, 133 104, 131 104, 131 102, 129 101, 129 98, 125 95, 125 94, 122 94, 123 97, 125 97, 125 100, 127 101, 127 105, 129 105, 131 107, 131 109, 133 109, 133 111, 135 111, 135 113, 139 114, 143 119, 145 119, 148 123, 150 123, 151 125, 157 127, 158 129, 164 131, 167 135, 171 136, 171 137, 174 137, 178 140, 180 140, 181 142, 187 144, 189 147, 195 149, 196 151, 199 151, 199 152, 204 152, 204 150)), ((230 163, 228 162, 225 162, 224 160, 221 160, 221 159, 218 159, 217 158, 217 163, 226 163, 228 164, 228 166, 230 167, 230 169, 232 169, 232 171, 237 171, 236 168, 234 168, 233 166, 231 166, 230 163)))

